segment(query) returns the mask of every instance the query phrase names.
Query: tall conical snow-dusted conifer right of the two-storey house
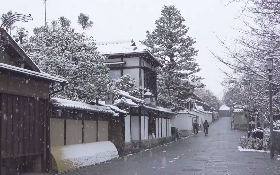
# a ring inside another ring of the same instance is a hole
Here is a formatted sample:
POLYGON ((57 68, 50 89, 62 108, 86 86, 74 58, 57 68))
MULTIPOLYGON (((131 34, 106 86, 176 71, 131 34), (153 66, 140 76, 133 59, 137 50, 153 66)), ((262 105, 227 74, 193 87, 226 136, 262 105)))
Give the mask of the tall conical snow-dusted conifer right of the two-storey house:
MULTIPOLYGON (((146 39, 140 41, 164 64, 162 68, 157 69, 157 72, 161 75, 160 81, 164 81, 167 88, 182 85, 182 80, 189 77, 193 82, 202 80, 200 76, 194 75, 201 70, 194 59, 198 50, 193 47, 196 43, 195 38, 187 35, 189 28, 183 24, 184 21, 175 6, 164 6, 161 17, 155 21, 155 30, 146 31, 146 39)), ((200 84, 199 87, 204 85, 200 84)), ((162 87, 157 87, 160 88, 162 87)), ((184 93, 172 94, 172 97, 176 97, 172 101, 180 98, 180 94, 184 93)))

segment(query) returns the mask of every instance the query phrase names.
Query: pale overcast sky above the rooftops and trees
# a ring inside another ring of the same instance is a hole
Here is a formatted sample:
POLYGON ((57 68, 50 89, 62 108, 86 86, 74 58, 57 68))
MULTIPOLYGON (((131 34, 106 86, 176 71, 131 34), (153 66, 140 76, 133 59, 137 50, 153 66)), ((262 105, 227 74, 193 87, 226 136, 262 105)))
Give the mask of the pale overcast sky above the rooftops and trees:
MULTIPOLYGON (((47 0, 47 22, 65 16, 72 21, 71 27, 81 32, 77 24, 80 12, 90 16, 94 21, 93 28, 86 31, 96 41, 115 41, 145 39, 145 31, 155 28, 155 20, 160 17, 163 5, 175 5, 185 18, 185 25, 190 27, 189 35, 195 37, 195 47, 199 50, 195 58, 202 68, 199 73, 206 88, 216 95, 224 88, 217 81, 222 81, 221 69, 226 67, 216 62, 208 48, 215 53, 223 54, 213 32, 221 38, 227 35, 228 42, 238 33, 231 27, 242 27, 242 23, 233 17, 242 4, 234 3, 224 6, 228 0, 47 0), (212 32, 213 31, 213 32, 212 32)), ((33 21, 19 23, 32 34, 34 27, 45 25, 45 4, 42 0, 1 1, 0 14, 8 10, 31 14, 33 21)))

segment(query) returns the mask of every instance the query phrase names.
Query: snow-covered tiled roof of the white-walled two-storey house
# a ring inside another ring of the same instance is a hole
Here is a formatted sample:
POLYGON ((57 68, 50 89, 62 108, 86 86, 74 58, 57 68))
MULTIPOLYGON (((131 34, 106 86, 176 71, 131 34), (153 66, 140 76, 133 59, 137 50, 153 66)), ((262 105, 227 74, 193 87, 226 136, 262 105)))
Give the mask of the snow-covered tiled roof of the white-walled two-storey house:
POLYGON ((153 60, 155 60, 160 66, 163 66, 163 64, 159 62, 149 51, 138 49, 133 39, 113 42, 96 42, 96 46, 99 52, 104 55, 148 53, 153 60))

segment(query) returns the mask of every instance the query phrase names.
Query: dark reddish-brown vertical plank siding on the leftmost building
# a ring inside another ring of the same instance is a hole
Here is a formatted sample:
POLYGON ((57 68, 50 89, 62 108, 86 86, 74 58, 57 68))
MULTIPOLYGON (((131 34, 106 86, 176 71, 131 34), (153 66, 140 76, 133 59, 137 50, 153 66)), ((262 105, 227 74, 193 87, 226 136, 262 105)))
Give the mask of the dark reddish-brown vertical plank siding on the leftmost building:
POLYGON ((11 94, 0 96, 1 158, 42 155, 48 100, 11 94))

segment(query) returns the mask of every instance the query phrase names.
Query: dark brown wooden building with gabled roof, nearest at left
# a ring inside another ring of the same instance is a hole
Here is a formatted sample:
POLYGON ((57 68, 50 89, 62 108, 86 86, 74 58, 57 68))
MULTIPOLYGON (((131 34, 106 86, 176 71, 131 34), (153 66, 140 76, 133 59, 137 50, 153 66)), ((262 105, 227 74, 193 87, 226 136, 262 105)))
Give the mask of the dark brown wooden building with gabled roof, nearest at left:
POLYGON ((50 86, 68 82, 42 72, 0 33, 0 174, 50 172, 50 86))

